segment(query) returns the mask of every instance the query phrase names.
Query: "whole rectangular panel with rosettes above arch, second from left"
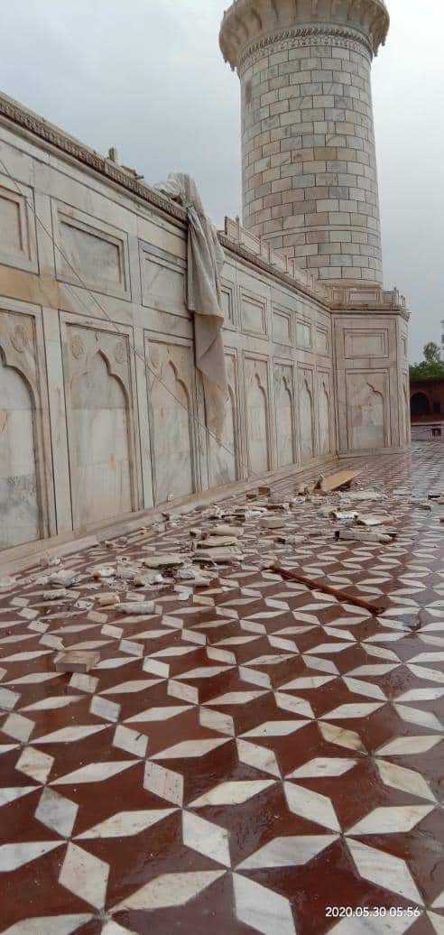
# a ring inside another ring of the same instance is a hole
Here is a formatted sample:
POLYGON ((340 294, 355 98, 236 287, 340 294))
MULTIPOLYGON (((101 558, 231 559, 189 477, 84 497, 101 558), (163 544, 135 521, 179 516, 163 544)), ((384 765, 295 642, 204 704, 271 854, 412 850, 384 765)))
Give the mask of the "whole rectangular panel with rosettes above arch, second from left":
POLYGON ((78 528, 134 509, 128 344, 68 325, 68 437, 78 528))

